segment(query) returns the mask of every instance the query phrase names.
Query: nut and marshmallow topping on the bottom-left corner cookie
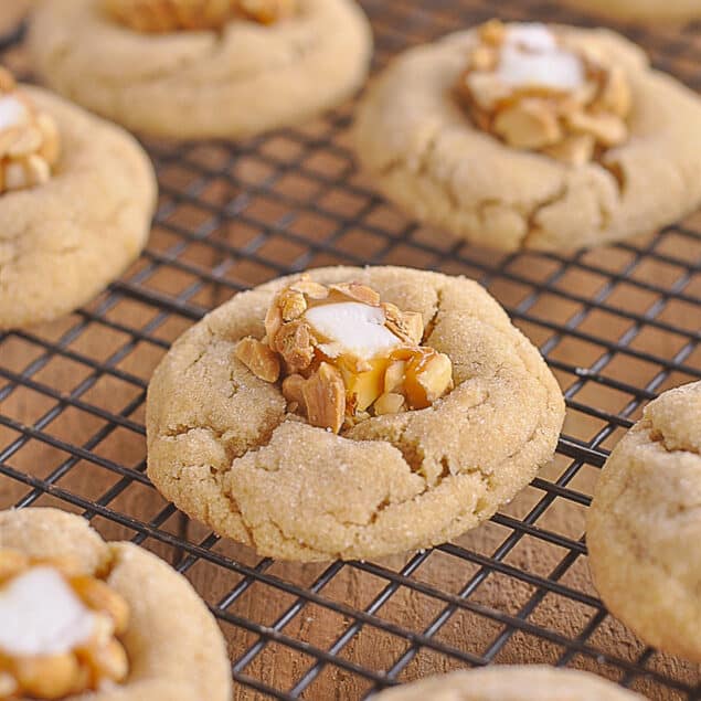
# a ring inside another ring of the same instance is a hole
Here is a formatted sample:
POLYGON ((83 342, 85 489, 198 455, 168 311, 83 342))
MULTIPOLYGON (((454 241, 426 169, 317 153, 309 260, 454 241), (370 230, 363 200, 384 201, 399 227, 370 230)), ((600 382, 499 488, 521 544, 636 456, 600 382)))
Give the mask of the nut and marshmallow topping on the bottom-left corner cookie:
POLYGON ((63 699, 126 679, 117 636, 129 606, 105 582, 74 572, 67 560, 0 550, 0 614, 9 626, 0 631, 0 700, 63 699))

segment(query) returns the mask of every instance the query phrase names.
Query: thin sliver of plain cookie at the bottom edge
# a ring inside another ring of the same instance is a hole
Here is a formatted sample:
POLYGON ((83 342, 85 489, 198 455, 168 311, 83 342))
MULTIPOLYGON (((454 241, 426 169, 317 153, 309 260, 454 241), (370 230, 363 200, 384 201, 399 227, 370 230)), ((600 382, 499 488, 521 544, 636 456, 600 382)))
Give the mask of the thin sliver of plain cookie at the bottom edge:
POLYGON ((642 701, 588 672, 541 666, 485 667, 389 689, 378 701, 642 701))

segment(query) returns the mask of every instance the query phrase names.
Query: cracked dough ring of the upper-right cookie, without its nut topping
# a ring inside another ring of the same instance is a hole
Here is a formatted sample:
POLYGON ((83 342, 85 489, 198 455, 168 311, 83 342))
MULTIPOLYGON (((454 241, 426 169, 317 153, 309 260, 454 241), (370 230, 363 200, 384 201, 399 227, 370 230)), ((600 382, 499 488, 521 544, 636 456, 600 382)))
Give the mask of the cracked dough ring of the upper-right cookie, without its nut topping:
MULTIPOLYGON (((404 53, 376 79, 354 126, 359 158, 383 194, 478 245, 566 249, 649 233, 701 203, 701 102, 607 30, 563 28, 622 66, 630 138, 581 167, 506 146, 477 129, 455 95, 475 30, 404 53)), ((439 234, 436 234, 439 235, 439 234)))

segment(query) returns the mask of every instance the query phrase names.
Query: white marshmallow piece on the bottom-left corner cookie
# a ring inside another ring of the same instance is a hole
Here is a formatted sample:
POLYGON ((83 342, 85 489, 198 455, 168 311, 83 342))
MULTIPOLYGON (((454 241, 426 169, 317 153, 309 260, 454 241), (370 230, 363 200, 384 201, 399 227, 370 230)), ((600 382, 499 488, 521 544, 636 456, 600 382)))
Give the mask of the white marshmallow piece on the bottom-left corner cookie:
POLYGON ((86 642, 95 615, 52 567, 32 567, 0 590, 0 650, 61 655, 86 642))

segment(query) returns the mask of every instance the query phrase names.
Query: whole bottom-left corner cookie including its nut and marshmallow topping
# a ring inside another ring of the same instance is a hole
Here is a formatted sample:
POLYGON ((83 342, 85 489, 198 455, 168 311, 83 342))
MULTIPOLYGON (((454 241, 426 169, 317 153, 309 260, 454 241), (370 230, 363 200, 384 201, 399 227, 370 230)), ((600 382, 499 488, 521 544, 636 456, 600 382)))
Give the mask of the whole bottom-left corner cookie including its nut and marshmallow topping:
POLYGON ((106 543, 81 517, 0 512, 0 683, 19 682, 20 698, 231 698, 223 636, 190 583, 131 543, 106 543))

